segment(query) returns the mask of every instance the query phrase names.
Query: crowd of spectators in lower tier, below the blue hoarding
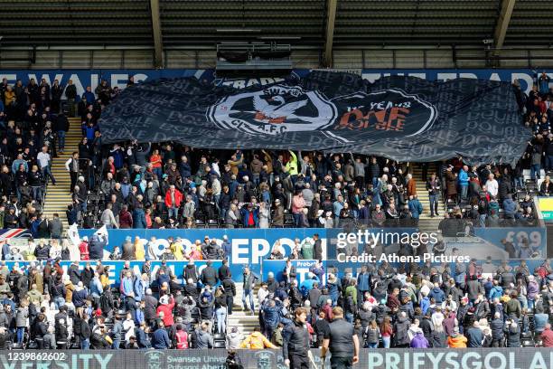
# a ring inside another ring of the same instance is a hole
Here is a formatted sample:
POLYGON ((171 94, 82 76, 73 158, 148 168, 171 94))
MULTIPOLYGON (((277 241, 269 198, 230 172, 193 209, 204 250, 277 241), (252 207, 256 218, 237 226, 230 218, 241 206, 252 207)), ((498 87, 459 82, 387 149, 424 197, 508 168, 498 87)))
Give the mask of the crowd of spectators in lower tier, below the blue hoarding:
POLYGON ((82 245, 85 257, 67 269, 43 250, 38 261, 11 269, 1 261, 0 348, 288 348, 298 307, 312 347, 323 345, 333 312, 352 325, 361 347, 553 346, 549 260, 535 270, 525 260, 516 267, 383 262, 363 264, 356 276, 318 262, 301 283, 286 260, 278 279, 267 273, 261 280, 246 266, 235 283, 227 259, 219 268, 211 261, 226 258, 228 248, 210 256, 210 244, 200 247, 208 260, 202 271, 194 260, 182 270, 162 260, 153 274, 150 260, 139 270, 127 260, 115 280, 102 260, 87 260, 82 245), (237 309, 258 314, 247 336, 228 326, 237 309))

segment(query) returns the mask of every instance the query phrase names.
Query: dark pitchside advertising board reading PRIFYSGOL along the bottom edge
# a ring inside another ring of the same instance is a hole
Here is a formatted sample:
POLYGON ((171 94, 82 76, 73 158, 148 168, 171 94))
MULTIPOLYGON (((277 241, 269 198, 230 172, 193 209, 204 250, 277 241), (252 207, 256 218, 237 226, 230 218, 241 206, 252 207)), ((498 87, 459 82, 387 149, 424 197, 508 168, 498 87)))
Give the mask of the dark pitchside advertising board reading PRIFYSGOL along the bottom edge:
MULTIPOLYGON (((319 350, 311 350, 322 367, 319 350)), ((246 369, 286 369, 280 350, 238 350, 246 369)), ((4 351, 7 369, 224 369, 227 350, 4 351)), ((330 368, 330 357, 324 367, 330 368)), ((546 369, 553 367, 550 348, 361 349, 363 369, 546 369)))

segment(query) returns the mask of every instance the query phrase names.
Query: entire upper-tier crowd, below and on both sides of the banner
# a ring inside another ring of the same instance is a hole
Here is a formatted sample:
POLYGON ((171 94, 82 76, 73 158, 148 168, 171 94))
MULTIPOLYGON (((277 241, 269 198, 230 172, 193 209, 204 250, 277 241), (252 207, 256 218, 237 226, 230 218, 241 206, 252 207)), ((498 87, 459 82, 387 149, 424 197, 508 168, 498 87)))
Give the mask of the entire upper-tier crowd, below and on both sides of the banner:
POLYGON ((473 226, 533 223, 535 213, 526 191, 546 196, 553 191, 548 176, 539 178, 540 169, 548 173, 553 163, 553 155, 548 155, 553 147, 548 144, 553 137, 548 134, 553 107, 544 78, 537 79, 528 96, 518 89, 524 122, 536 135, 517 166, 466 166, 462 157, 425 164, 424 194, 417 193, 412 166, 381 157, 211 151, 172 142, 103 147, 98 118, 118 94, 107 81, 102 80, 94 92, 88 87, 78 97, 71 81, 61 86, 54 80, 50 86, 46 80, 40 84, 30 80, 24 87, 21 81, 11 86, 3 80, 3 210, 9 214, 16 195, 15 215, 27 213, 16 222, 10 216, 5 227, 30 229, 39 218, 44 185, 47 179, 55 184, 52 156, 64 151, 66 116, 75 115, 80 117, 83 137, 65 164, 72 193, 67 216, 70 224, 79 222, 86 228, 417 225, 421 213, 439 216, 442 200, 448 203, 446 217, 469 218, 473 226), (524 169, 539 181, 528 189, 524 169), (429 209, 424 209, 419 196, 428 196, 429 209))

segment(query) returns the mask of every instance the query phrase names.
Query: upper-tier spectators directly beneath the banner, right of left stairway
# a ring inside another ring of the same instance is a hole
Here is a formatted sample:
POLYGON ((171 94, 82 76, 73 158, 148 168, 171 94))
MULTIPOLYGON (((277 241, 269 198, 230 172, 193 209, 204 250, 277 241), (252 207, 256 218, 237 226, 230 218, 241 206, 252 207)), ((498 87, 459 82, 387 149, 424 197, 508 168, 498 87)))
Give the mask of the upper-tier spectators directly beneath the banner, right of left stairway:
MULTIPOLYGON (((418 194, 411 166, 379 157, 237 150, 223 164, 225 153, 136 142, 108 155, 88 227, 96 216, 109 228, 417 226, 444 202, 446 217, 475 227, 536 221, 534 193, 515 186, 510 166, 469 169, 462 158, 431 175, 423 165, 418 194)), ((73 207, 85 201, 76 195, 73 207)))

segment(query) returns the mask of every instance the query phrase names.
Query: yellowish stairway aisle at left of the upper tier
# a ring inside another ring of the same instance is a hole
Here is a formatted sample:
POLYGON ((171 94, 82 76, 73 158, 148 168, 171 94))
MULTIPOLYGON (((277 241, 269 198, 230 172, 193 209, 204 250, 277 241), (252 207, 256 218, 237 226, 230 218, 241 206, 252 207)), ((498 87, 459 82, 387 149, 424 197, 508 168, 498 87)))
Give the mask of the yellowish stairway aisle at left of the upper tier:
POLYGON ((73 151, 79 151, 79 143, 82 137, 80 129, 80 118, 69 118, 70 130, 65 137, 65 151, 58 153, 58 157, 53 158, 52 175, 56 178, 56 185, 49 184, 44 200, 43 217, 52 219, 53 213, 60 215, 63 229, 69 228, 65 211, 67 205, 71 203, 70 194, 70 175, 65 169, 65 162, 70 158, 73 151))

